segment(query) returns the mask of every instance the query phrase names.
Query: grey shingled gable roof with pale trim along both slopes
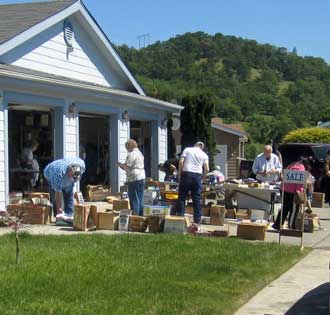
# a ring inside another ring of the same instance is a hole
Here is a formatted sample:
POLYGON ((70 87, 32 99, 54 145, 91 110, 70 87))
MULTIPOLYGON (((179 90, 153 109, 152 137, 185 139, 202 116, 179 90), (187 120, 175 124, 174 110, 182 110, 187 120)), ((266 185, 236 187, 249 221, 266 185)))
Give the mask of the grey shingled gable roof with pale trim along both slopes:
POLYGON ((140 95, 146 95, 81 0, 54 0, 0 5, 0 55, 7 53, 76 12, 80 13, 80 18, 92 30, 94 40, 101 42, 102 49, 121 69, 131 86, 140 95))

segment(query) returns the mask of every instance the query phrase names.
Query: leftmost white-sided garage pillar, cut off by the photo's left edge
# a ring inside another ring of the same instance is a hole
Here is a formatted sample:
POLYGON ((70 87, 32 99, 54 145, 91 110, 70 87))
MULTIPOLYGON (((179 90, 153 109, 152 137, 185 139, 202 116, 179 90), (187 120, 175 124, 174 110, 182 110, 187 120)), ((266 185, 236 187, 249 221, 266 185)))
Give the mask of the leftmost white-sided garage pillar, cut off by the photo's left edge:
POLYGON ((4 92, 0 90, 0 210, 6 210, 9 194, 8 111, 4 92))

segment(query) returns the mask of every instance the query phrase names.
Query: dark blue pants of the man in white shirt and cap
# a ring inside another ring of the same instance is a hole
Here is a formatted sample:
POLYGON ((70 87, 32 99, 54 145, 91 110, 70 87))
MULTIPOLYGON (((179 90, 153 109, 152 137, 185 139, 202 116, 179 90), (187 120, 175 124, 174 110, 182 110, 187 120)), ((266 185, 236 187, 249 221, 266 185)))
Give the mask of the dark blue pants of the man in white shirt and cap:
POLYGON ((194 222, 199 224, 201 222, 201 192, 202 192, 202 175, 198 173, 183 172, 181 174, 179 186, 179 201, 178 201, 178 215, 184 216, 185 203, 188 192, 191 192, 191 197, 194 206, 194 222))

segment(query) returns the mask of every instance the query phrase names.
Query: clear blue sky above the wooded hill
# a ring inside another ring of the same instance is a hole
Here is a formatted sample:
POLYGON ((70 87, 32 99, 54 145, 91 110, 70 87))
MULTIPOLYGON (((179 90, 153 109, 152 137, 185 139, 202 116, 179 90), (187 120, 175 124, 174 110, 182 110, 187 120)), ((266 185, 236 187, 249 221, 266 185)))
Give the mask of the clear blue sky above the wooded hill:
MULTIPOLYGON (((2 3, 25 1, 0 0, 2 3)), ((30 1, 32 2, 32 1, 30 1)), ((330 0, 83 0, 115 44, 139 46, 186 32, 269 43, 330 63, 330 0)))

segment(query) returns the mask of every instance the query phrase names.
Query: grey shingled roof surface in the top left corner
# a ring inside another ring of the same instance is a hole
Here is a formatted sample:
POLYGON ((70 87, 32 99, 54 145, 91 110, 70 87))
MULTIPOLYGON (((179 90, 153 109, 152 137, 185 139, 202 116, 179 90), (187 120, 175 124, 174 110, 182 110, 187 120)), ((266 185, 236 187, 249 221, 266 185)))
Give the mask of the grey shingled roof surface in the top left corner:
POLYGON ((77 1, 63 0, 0 5, 0 45, 77 1))

